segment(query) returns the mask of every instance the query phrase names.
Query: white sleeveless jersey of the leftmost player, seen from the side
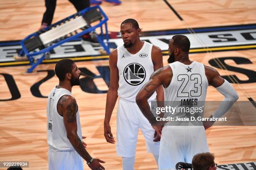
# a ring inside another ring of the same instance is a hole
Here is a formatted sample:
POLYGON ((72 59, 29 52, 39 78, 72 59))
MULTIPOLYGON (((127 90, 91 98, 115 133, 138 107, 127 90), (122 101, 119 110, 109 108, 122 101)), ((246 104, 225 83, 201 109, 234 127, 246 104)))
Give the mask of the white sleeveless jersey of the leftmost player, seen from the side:
MULTIPOLYGON (((74 150, 67 138, 67 131, 63 117, 57 111, 57 103, 63 95, 71 95, 69 90, 54 87, 47 101, 47 143, 52 150, 74 150)), ((79 110, 77 110, 77 135, 82 140, 82 129, 80 124, 79 110)))

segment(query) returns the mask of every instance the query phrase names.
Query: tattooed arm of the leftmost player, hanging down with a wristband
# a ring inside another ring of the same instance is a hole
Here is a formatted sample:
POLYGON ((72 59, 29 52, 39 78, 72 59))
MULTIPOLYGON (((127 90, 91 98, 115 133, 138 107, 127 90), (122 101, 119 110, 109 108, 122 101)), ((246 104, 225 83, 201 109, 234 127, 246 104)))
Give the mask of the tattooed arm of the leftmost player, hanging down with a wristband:
MULTIPOLYGON (((90 162, 92 157, 84 148, 82 140, 77 135, 77 102, 74 97, 70 95, 64 95, 59 99, 57 109, 59 114, 63 115, 64 125, 67 131, 67 138, 72 144, 77 153, 84 159, 86 162, 90 162)), ((89 167, 91 169, 102 168, 105 169, 100 163, 105 163, 100 159, 93 159, 89 167)))

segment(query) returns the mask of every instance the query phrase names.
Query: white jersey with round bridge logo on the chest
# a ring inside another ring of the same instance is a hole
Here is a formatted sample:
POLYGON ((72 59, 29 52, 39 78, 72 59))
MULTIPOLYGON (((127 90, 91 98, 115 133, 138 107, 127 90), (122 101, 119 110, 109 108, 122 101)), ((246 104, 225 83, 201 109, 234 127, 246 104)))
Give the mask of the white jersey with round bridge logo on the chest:
MULTIPOLYGON (((153 45, 144 41, 144 45, 139 52, 131 54, 121 45, 118 50, 117 67, 119 72, 118 96, 136 102, 136 95, 141 87, 148 82, 154 72, 154 65, 151 59, 153 45)), ((155 100, 156 92, 148 101, 155 100)))

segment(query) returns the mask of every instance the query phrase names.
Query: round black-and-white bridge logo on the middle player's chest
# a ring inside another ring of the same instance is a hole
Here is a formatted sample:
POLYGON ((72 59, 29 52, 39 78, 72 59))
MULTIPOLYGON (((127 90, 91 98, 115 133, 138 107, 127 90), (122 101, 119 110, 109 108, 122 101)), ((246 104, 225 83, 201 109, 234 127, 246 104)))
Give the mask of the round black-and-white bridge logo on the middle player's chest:
POLYGON ((131 63, 125 67, 123 77, 129 85, 140 85, 146 78, 146 71, 142 65, 131 63))

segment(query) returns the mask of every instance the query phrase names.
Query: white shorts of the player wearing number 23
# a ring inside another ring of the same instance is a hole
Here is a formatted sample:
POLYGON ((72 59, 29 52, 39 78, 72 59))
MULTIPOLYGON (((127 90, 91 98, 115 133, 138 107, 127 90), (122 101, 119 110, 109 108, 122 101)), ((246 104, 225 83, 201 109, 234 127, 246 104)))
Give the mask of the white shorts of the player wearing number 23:
POLYGON ((178 162, 192 163, 197 153, 209 152, 203 126, 164 126, 159 150, 159 170, 174 168, 178 162))

